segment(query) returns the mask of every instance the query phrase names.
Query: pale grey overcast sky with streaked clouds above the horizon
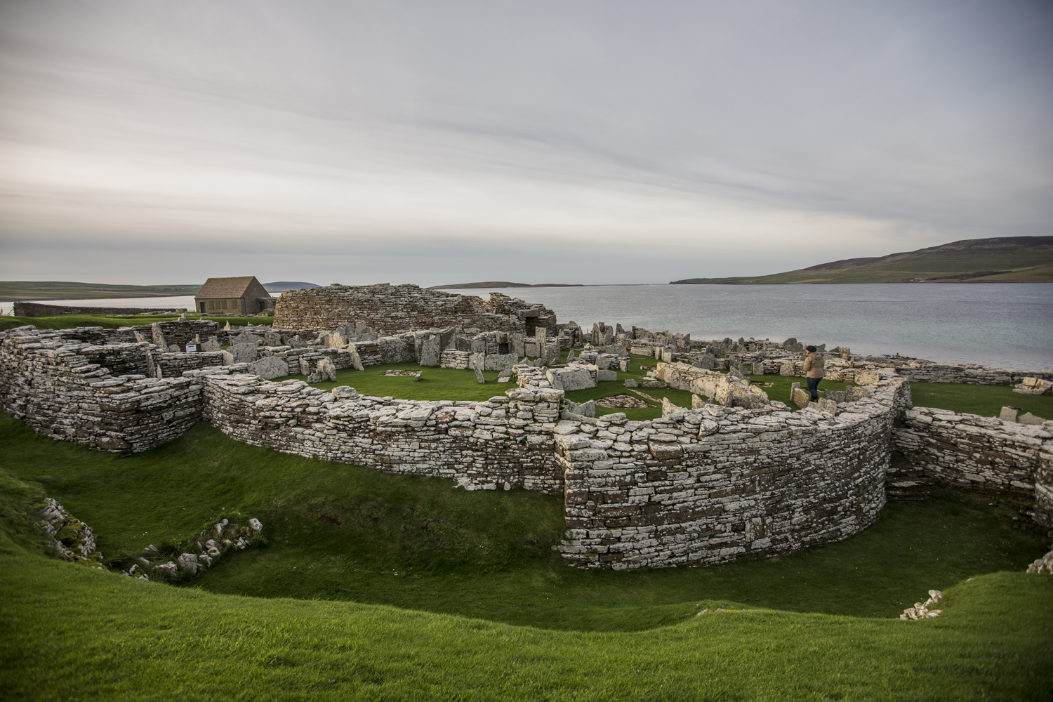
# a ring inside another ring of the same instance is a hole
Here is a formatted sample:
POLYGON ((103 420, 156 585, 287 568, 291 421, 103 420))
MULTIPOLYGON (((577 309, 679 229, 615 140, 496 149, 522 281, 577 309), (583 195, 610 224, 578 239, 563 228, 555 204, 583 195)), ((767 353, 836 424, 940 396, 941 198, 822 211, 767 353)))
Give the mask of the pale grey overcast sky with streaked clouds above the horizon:
POLYGON ((667 282, 1049 235, 1053 3, 0 2, 0 278, 667 282))

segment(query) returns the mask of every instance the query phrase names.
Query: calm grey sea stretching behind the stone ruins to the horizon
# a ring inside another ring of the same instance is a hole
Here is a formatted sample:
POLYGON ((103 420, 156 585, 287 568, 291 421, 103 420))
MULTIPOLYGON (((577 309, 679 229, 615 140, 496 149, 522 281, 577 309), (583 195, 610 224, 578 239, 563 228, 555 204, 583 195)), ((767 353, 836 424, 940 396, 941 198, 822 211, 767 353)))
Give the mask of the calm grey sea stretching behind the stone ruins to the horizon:
MULTIPOLYGON (((681 332, 696 339, 794 337, 860 354, 1037 370, 1053 367, 1053 284, 597 285, 493 288, 574 320, 681 332)), ((451 290, 483 298, 491 289, 451 290)), ((193 297, 56 300, 194 307, 193 297)), ((11 303, 0 303, 11 314, 11 303)))

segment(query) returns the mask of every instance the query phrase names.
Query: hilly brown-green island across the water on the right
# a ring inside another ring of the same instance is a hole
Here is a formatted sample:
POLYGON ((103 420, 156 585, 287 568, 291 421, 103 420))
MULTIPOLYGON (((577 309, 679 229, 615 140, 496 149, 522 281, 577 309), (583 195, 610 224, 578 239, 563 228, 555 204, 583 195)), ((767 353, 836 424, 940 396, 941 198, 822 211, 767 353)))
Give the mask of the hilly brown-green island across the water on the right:
POLYGON ((845 259, 770 276, 688 278, 670 284, 1035 282, 1053 282, 1053 237, 966 239, 916 252, 845 259))

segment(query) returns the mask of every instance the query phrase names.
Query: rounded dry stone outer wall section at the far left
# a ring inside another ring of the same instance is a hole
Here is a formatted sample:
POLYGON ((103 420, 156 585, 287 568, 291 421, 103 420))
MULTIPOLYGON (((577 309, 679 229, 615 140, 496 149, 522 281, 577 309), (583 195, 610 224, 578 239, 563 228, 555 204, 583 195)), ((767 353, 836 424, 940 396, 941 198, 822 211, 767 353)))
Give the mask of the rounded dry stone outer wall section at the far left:
POLYGON ((34 432, 107 452, 143 452, 179 437, 201 417, 201 382, 113 376, 104 353, 143 368, 151 344, 105 347, 33 337, 0 343, 0 403, 34 432))

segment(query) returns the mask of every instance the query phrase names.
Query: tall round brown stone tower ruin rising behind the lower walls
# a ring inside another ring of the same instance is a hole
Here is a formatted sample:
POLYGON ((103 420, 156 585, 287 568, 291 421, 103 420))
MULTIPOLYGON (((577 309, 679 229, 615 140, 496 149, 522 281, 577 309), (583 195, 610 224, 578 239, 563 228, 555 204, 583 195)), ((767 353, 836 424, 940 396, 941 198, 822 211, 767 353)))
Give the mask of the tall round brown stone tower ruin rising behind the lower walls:
POLYGON ((490 300, 417 285, 330 285, 282 293, 274 324, 282 329, 333 329, 349 322, 395 334, 430 327, 476 332, 526 332, 555 328, 556 316, 500 293, 490 300))

